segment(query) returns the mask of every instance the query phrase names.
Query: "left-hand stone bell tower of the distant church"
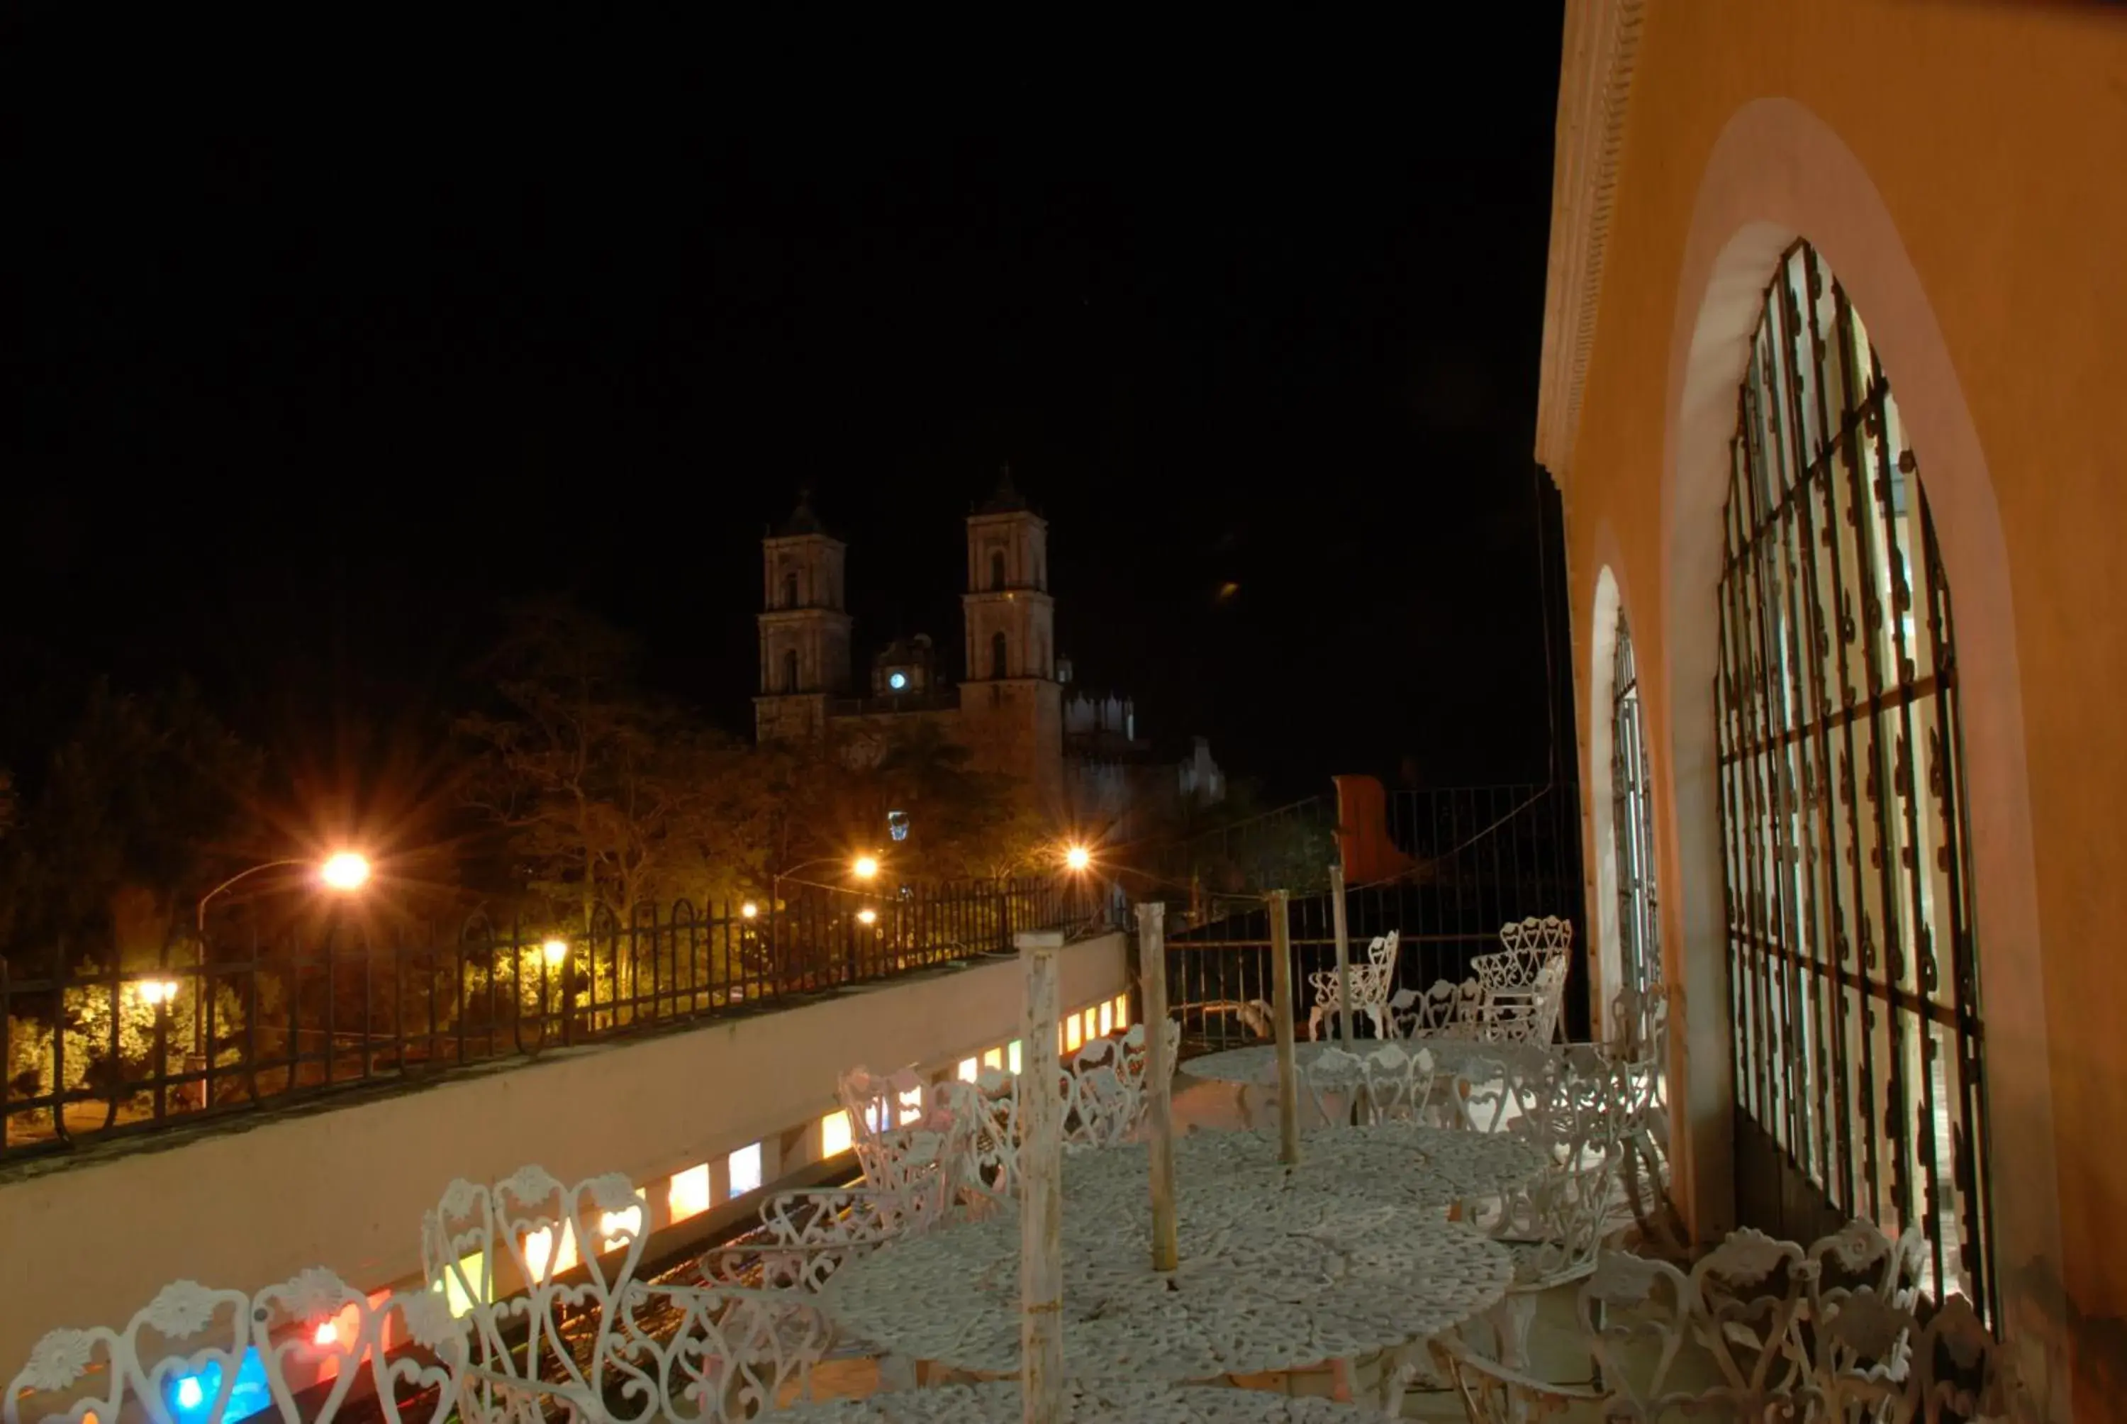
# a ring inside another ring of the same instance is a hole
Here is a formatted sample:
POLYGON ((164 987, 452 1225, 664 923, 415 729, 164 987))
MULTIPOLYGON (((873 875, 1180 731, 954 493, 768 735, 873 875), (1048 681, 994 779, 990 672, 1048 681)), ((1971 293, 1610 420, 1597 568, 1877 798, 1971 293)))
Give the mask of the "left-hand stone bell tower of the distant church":
POLYGON ((813 513, 810 492, 783 528, 761 541, 761 690, 755 741, 819 736, 827 702, 849 692, 849 613, 842 607, 847 545, 813 513))

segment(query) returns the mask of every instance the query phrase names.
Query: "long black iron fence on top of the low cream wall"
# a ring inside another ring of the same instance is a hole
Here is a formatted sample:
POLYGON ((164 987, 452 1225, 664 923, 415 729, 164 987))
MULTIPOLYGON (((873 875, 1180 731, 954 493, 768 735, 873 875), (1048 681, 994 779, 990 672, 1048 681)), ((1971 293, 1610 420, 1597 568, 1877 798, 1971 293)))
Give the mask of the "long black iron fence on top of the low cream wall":
POLYGON ((455 934, 353 920, 306 941, 208 943, 151 966, 28 977, 0 960, 0 1160, 202 1115, 536 1056, 1098 928, 1070 879, 598 911, 587 930, 476 915, 455 934))

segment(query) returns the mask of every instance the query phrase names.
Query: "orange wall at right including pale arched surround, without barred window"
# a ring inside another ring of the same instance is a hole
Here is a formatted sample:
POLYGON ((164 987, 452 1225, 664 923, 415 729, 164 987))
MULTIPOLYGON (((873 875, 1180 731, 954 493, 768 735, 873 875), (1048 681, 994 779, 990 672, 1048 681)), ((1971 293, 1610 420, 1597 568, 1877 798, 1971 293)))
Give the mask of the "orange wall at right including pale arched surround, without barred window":
POLYGON ((1591 903, 1610 841, 1608 728, 1591 724, 1608 715, 1617 602, 1640 656, 1663 941, 1691 1020, 1680 1186, 1719 1226, 1721 462, 1757 296, 1804 236, 1876 338, 1957 607, 2010 1326, 2072 1347, 2076 1398, 2099 1418, 2127 1396, 2112 930, 2127 920, 2127 21, 2067 4, 1648 0, 1627 113, 1580 426, 1553 464, 1591 903))

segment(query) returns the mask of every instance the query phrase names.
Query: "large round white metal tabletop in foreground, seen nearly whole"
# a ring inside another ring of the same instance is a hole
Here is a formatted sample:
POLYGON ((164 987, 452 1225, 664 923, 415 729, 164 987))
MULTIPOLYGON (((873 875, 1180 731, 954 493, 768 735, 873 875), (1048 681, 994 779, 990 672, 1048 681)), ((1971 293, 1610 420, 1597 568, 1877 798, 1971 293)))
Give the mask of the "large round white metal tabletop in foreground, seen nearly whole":
MULTIPOLYGON (((1142 1181, 1142 1179, 1140 1179, 1142 1181)), ((1178 1196, 1180 1269, 1151 1269, 1151 1203, 1064 1198, 1064 1375, 1191 1381, 1349 1360, 1438 1335, 1506 1296, 1508 1252, 1438 1211, 1261 1179, 1178 1196)), ((1019 1213, 844 1264, 821 1303, 891 1354, 1019 1371, 1019 1213)))

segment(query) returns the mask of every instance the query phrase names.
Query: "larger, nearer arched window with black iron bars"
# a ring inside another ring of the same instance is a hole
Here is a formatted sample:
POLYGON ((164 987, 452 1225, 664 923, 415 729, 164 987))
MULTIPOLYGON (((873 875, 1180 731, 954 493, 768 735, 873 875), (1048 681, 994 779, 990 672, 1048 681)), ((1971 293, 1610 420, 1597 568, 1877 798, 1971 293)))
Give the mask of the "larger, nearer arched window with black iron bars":
POLYGON ((1755 1124, 1738 1183, 1755 1152, 1785 1169, 1765 1194, 1923 1232, 1923 1290, 1993 1320, 1950 590, 1861 317, 1791 247, 1736 402, 1716 709, 1736 1105, 1755 1124))

